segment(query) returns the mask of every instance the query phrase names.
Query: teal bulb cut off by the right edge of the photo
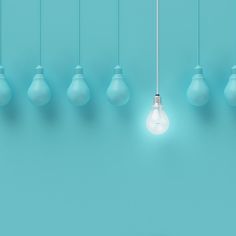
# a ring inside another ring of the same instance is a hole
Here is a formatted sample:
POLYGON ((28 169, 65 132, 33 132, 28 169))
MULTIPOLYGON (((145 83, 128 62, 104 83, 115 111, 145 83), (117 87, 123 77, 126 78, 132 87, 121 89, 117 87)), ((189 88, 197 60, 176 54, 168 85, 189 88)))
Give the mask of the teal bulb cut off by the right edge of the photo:
POLYGON ((232 68, 232 75, 225 87, 225 98, 230 106, 236 106, 236 65, 232 68))

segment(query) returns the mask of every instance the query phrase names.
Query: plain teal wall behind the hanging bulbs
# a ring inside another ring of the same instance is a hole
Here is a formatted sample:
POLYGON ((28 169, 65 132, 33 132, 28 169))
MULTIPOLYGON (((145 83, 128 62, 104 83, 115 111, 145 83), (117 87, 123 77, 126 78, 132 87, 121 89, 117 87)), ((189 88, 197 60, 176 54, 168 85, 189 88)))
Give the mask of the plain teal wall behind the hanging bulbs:
POLYGON ((0 111, 0 235, 236 235, 236 110, 223 97, 236 63, 235 0, 202 1, 202 64, 211 101, 186 89, 196 63, 196 0, 160 1, 160 78, 171 127, 145 128, 155 83, 155 1, 121 0, 128 106, 105 97, 116 62, 115 0, 82 0, 82 65, 92 89, 67 101, 74 73, 73 0, 45 0, 43 62, 52 104, 26 91, 38 63, 38 3, 5 0, 3 58, 14 102, 0 111))

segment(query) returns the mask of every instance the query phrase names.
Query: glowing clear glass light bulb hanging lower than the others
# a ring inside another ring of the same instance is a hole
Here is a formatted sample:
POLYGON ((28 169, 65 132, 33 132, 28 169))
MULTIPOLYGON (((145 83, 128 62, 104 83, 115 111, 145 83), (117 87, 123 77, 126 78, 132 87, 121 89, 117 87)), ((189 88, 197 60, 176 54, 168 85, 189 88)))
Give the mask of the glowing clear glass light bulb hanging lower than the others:
POLYGON ((148 115, 146 125, 149 132, 154 135, 164 134, 169 128, 169 118, 163 109, 159 94, 154 98, 152 110, 148 115))

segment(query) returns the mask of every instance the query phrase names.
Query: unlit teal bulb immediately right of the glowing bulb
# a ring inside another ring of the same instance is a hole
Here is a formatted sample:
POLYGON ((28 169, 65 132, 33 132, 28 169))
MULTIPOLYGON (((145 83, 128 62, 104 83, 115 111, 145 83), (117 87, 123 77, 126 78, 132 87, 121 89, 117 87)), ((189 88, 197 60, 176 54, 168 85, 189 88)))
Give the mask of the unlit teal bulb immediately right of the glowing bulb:
POLYGON ((209 88, 206 84, 203 70, 201 66, 197 66, 196 74, 192 78, 192 82, 187 91, 188 101, 193 106, 204 106, 209 101, 209 88))

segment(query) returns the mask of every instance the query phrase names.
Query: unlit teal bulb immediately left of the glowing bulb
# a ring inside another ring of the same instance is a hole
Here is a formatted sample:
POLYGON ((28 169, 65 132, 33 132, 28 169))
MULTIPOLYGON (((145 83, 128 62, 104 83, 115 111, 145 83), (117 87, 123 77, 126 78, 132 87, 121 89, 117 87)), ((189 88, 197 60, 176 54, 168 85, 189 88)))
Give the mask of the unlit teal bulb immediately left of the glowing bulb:
POLYGON ((107 89, 107 97, 113 105, 123 106, 130 99, 129 88, 124 81, 121 67, 116 66, 114 70, 115 74, 107 89))

